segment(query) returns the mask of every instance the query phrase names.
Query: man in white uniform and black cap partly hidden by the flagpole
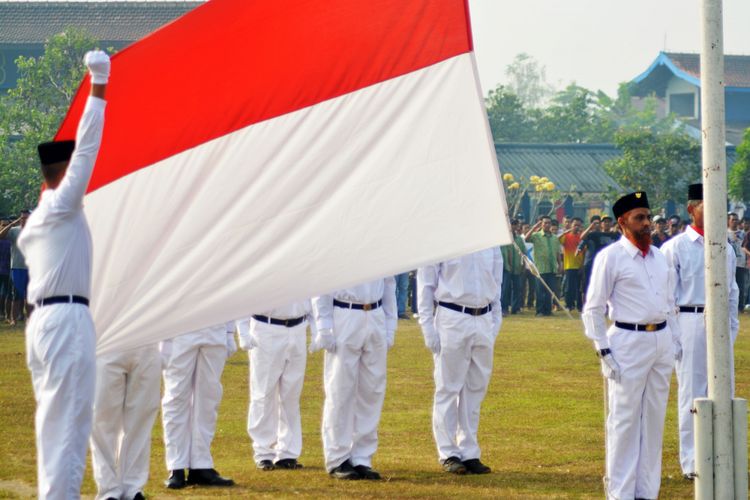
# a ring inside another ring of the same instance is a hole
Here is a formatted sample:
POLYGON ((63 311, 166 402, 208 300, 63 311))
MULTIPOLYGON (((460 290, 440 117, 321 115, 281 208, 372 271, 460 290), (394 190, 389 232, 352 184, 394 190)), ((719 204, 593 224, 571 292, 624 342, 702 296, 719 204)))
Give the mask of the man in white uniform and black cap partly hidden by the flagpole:
MULTIPOLYGON (((675 302, 679 308, 677 323, 680 329, 682 360, 677 361, 678 414, 680 428, 680 466, 686 479, 695 478, 695 452, 693 407, 695 398, 708 394, 708 368, 706 353, 706 324, 703 308, 705 295, 705 259, 703 250, 703 185, 688 187, 688 214, 690 225, 684 233, 668 240, 661 247, 669 265, 676 274, 675 302)), ((727 251, 727 276, 729 287, 729 326, 732 345, 737 338, 739 320, 737 304, 739 288, 734 280, 734 252, 727 251)), ((733 358, 732 358, 733 359, 733 358)), ((733 364, 732 364, 733 366, 733 364)), ((732 370, 734 373, 734 370, 732 370)))

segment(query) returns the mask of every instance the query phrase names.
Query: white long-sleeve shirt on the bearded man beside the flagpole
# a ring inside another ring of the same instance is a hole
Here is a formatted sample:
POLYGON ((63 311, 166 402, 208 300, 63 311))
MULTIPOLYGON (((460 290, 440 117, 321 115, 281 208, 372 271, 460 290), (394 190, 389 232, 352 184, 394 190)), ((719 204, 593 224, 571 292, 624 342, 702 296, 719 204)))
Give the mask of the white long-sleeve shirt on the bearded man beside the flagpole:
POLYGON ((674 270, 658 248, 642 252, 627 238, 604 248, 594 259, 583 307, 586 336, 597 349, 609 348, 605 311, 623 323, 652 324, 667 321, 675 342, 674 270))

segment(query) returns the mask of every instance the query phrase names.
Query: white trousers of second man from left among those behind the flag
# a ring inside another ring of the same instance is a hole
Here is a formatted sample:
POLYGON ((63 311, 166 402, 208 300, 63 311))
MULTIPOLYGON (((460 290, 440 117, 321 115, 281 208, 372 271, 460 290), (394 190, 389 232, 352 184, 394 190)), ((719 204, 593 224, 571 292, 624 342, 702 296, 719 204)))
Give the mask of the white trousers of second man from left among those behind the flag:
POLYGON ((223 330, 172 339, 161 401, 168 470, 213 468, 211 441, 216 431, 226 358, 223 330))

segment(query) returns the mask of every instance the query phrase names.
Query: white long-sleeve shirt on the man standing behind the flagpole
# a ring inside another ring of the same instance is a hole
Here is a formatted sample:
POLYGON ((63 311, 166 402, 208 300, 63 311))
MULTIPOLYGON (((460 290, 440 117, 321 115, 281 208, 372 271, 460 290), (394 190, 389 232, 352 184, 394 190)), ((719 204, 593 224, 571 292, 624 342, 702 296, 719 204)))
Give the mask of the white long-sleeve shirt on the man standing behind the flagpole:
MULTIPOLYGON (((692 226, 668 240, 661 247, 667 262, 675 270, 675 303, 677 306, 705 306, 706 275, 704 239, 692 226)), ((727 278, 729 280, 729 328, 737 335, 740 322, 737 318, 739 288, 735 281, 734 252, 727 248, 727 278)))

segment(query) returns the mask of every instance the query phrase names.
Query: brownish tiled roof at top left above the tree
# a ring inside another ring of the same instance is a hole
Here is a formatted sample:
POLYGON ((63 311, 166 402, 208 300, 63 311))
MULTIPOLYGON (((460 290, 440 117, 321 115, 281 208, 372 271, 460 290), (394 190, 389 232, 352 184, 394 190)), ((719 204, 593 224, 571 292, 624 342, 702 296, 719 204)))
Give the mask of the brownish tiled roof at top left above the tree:
POLYGON ((1 2, 0 44, 44 43, 69 27, 129 43, 201 5, 196 2, 1 2))

